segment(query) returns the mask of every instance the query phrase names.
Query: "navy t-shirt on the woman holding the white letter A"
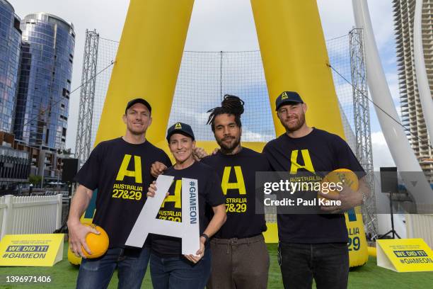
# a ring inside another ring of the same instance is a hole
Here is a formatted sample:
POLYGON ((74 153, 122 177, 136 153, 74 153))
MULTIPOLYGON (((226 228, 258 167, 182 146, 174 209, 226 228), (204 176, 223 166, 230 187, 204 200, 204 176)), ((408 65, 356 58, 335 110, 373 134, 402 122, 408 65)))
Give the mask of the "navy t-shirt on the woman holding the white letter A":
MULTIPOLYGON (((185 169, 175 169, 174 166, 171 166, 164 171, 164 175, 174 176, 174 180, 171 187, 168 189, 169 196, 164 200, 156 217, 158 219, 181 222, 182 178, 196 179, 200 234, 202 234, 210 222, 210 217, 207 212, 212 210, 212 207, 224 204, 224 196, 221 191, 219 176, 210 166, 200 162, 194 162, 194 164, 185 169)), ((151 249, 158 256, 178 256, 182 254, 182 239, 151 234, 151 249)))

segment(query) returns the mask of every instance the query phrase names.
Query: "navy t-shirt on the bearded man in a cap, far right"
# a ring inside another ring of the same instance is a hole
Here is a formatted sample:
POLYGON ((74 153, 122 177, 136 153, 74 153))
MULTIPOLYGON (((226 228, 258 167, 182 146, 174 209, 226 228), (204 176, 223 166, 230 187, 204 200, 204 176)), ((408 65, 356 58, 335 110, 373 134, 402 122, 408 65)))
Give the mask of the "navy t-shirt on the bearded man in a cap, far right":
MULTIPOLYGON (((304 137, 279 136, 265 145, 263 153, 273 171, 330 172, 350 169, 359 178, 364 169, 345 140, 325 130, 304 137)), ((282 242, 319 244, 347 242, 344 214, 278 214, 278 237, 282 242)))

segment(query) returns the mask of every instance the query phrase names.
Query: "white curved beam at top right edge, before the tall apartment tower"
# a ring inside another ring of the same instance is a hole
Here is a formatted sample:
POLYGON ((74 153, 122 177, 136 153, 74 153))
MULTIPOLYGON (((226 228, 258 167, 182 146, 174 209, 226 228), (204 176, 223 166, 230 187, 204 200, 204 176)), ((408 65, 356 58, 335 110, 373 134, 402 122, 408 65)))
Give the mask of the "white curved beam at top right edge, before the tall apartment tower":
POLYGON ((422 47, 422 0, 415 4, 413 23, 413 52, 415 57, 415 74, 417 75, 418 94, 420 95, 422 114, 429 132, 430 144, 433 139, 433 100, 429 80, 425 69, 424 49, 422 47))

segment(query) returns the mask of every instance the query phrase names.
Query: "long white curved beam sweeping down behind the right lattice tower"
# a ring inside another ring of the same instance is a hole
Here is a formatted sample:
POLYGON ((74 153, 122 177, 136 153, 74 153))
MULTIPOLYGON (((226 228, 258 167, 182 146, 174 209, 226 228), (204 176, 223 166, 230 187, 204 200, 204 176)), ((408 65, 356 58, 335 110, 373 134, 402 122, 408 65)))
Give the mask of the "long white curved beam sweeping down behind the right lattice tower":
POLYGON ((392 118, 375 107, 383 136, 391 151, 405 187, 411 193, 417 204, 417 212, 432 212, 433 191, 430 187, 408 139, 400 125, 400 118, 394 106, 386 77, 383 73, 379 52, 374 39, 373 28, 366 0, 352 0, 354 18, 357 28, 364 28, 364 47, 366 54, 366 71, 371 97, 374 102, 386 111, 392 118), (399 122, 397 123, 396 120, 399 122), (414 174, 414 172, 417 172, 414 174))

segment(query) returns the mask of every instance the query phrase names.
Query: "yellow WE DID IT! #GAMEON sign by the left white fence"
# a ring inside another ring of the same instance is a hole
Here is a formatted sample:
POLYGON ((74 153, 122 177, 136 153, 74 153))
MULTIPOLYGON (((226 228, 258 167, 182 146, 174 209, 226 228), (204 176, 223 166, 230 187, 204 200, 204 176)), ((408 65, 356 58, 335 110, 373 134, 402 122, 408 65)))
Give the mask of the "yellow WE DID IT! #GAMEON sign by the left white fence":
POLYGON ((5 235, 0 242, 0 266, 50 267, 63 258, 64 234, 5 235))

